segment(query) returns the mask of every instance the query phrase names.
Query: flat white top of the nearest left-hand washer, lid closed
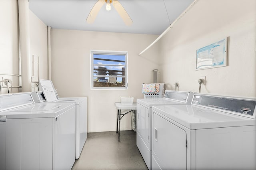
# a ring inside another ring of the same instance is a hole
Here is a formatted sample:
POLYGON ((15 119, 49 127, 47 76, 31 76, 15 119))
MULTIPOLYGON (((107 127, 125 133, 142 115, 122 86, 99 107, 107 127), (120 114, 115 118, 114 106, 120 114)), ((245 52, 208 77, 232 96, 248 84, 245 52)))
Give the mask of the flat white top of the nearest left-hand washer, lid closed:
POLYGON ((6 115, 7 119, 58 117, 74 106, 75 103, 34 103, 3 111, 0 114, 6 115))

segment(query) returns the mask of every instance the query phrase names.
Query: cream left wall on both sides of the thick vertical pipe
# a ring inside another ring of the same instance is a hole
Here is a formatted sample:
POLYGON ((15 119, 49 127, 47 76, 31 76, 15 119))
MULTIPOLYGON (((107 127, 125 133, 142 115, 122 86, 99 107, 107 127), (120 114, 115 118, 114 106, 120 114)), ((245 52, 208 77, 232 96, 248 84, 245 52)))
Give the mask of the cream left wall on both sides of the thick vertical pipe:
MULTIPOLYGON (((13 81, 13 86, 22 85, 21 78, 19 76, 10 76, 3 74, 21 74, 18 24, 19 22, 17 0, 0 0, 0 80, 11 79, 13 81)), ((40 56, 40 75, 42 79, 47 79, 47 26, 31 11, 29 12, 29 24, 31 61, 32 54, 40 56)), ((32 63, 30 63, 30 65, 32 70, 32 63)), ((37 65, 35 69, 37 73, 37 65)), ((37 74, 34 81, 37 81, 37 74)), ((20 90, 18 88, 12 89, 12 93, 17 93, 19 91, 20 90)), ((0 91, 0 94, 4 93, 7 93, 6 88, 1 89, 0 91)))

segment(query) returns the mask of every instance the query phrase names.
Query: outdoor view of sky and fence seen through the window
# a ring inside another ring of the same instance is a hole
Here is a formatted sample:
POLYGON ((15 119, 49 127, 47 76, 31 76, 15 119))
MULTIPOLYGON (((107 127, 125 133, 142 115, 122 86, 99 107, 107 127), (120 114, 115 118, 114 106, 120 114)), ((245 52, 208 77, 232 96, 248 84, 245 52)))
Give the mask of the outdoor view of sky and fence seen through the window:
POLYGON ((93 54, 93 87, 126 86, 125 54, 93 54))

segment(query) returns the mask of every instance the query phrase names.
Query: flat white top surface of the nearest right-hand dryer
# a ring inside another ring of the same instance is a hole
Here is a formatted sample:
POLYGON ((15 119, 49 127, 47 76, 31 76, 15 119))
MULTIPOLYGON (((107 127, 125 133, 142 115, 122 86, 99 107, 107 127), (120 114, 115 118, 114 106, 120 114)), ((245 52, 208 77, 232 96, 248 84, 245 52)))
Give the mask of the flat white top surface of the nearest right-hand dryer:
POLYGON ((256 119, 194 105, 153 106, 152 110, 153 113, 160 113, 189 129, 256 125, 256 119))

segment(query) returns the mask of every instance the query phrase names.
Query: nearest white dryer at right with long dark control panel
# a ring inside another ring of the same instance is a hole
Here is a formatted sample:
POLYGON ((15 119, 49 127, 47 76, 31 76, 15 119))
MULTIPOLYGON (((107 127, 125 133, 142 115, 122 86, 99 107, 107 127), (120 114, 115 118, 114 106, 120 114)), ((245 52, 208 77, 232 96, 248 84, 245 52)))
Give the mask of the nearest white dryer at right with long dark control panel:
POLYGON ((255 170, 256 99, 195 93, 153 106, 152 169, 255 170))

